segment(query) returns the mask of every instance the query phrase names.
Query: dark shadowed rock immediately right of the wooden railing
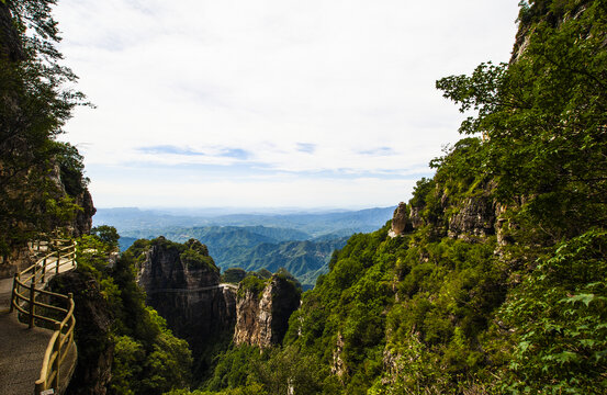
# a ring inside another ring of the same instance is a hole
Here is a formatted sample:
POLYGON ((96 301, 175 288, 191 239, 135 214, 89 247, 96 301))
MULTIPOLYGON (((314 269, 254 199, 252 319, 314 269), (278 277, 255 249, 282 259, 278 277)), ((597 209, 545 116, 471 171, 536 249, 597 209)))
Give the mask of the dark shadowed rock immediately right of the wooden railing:
POLYGON ((55 275, 48 286, 53 292, 74 293, 76 306, 78 363, 66 394, 104 395, 112 376, 114 318, 99 284, 90 274, 70 271, 55 275))

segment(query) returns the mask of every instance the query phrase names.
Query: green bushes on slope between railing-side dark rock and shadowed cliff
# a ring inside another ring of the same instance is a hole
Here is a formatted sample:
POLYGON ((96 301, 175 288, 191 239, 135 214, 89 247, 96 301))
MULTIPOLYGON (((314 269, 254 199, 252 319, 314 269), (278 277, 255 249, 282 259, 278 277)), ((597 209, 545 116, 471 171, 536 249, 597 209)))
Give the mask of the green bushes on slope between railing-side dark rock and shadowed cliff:
MULTIPOLYGON (((99 232, 113 236, 112 230, 99 232)), ((109 253, 114 249, 115 242, 99 236, 83 236, 78 244, 78 270, 97 279, 115 316, 110 393, 162 394, 187 386, 192 364, 188 343, 176 338, 165 319, 145 305, 145 294, 135 282, 133 255, 125 252, 113 266, 109 264, 109 253)))

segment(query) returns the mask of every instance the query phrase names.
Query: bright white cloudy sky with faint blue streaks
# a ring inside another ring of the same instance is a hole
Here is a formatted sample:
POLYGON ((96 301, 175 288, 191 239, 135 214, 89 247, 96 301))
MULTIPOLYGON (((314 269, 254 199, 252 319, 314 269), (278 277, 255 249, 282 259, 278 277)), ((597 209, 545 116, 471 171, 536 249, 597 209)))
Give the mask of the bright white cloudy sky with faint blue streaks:
POLYGON ((61 137, 98 207, 407 201, 465 114, 435 81, 508 61, 516 0, 59 0, 97 109, 61 137))

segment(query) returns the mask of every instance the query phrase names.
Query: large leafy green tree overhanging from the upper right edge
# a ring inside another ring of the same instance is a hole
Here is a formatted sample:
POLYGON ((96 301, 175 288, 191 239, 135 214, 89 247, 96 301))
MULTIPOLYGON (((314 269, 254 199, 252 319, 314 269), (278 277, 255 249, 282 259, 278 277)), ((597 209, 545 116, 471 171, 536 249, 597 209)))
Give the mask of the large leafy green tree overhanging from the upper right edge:
POLYGON ((477 111, 460 131, 486 136, 476 168, 497 181, 497 198, 532 196, 526 214, 555 242, 607 221, 607 5, 533 1, 527 9, 531 25, 522 26, 527 45, 516 61, 483 64, 437 87, 462 112, 477 111))

